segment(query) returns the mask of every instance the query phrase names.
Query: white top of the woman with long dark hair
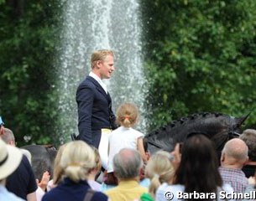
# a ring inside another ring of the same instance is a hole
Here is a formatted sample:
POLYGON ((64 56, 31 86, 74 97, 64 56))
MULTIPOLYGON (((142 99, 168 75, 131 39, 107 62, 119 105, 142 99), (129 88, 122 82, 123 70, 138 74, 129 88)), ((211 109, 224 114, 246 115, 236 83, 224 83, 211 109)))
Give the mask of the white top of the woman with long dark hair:
MULTIPOLYGON (((185 187, 181 184, 174 184, 174 185, 168 185, 168 183, 163 183, 159 186, 159 188, 157 189, 156 193, 155 193, 155 200, 156 201, 166 201, 166 200, 171 200, 171 201, 180 201, 180 200, 185 200, 182 198, 185 198, 185 196, 188 196, 188 193, 184 193, 184 197, 180 197, 181 193, 183 193, 185 190, 185 187)), ((196 196, 209 196, 208 198, 212 198, 211 196, 215 196, 216 200, 234 200, 234 199, 223 199, 224 196, 224 192, 226 193, 233 193, 233 189, 229 184, 223 184, 222 188, 217 188, 217 194, 215 193, 208 193, 208 195, 206 193, 194 193, 194 195, 191 195, 191 198, 196 198, 196 196), (212 195, 213 194, 213 195, 212 195), (222 199, 220 199, 222 198, 222 199)), ((190 200, 191 198, 187 198, 186 200, 190 200)), ((203 197, 199 197, 202 199, 206 199, 203 197)), ((212 199, 215 199, 212 198, 212 199)))

